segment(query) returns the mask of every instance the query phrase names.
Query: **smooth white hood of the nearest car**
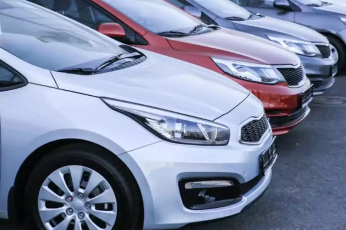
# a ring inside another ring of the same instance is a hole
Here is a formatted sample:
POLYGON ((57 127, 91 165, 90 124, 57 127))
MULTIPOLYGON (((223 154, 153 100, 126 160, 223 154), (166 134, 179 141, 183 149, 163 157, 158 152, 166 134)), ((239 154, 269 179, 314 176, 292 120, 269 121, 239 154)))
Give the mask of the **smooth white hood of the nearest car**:
MULTIPOLYGON (((58 88, 214 120, 249 91, 214 71, 138 49, 147 59, 133 67, 91 76, 54 72, 58 88)), ((261 103, 258 101, 258 103, 261 103)))

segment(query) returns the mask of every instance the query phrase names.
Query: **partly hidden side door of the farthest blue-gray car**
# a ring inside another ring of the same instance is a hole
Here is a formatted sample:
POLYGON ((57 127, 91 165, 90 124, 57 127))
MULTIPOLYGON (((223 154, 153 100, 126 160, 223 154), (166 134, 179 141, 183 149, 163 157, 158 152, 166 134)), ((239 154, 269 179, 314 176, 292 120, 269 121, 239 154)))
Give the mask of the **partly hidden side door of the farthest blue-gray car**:
POLYGON ((294 11, 285 11, 274 7, 274 0, 233 0, 240 6, 244 6, 248 11, 260 13, 286 21, 294 21, 294 11))

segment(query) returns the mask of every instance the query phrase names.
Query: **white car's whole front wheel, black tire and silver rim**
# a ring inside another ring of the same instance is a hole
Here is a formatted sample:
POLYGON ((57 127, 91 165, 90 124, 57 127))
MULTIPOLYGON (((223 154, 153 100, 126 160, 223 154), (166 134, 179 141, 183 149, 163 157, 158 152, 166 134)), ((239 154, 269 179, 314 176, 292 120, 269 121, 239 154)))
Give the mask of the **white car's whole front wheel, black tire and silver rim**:
POLYGON ((139 189, 122 162, 79 144, 40 161, 26 187, 26 213, 40 230, 143 229, 139 189))

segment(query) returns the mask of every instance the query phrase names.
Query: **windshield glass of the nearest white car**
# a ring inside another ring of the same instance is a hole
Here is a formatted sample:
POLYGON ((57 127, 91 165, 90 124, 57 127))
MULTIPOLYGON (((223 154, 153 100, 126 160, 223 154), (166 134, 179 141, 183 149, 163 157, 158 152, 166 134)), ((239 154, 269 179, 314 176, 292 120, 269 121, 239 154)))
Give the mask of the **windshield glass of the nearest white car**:
POLYGON ((0 47, 48 70, 126 52, 97 32, 22 0, 0 1, 0 47))

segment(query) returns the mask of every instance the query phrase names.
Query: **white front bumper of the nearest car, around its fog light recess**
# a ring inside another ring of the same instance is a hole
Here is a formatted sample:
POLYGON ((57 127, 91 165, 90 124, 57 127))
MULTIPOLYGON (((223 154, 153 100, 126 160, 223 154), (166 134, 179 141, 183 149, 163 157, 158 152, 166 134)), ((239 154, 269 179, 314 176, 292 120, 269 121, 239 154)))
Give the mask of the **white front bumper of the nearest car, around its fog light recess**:
POLYGON ((151 210, 151 213, 144 214, 144 229, 176 229, 188 223, 240 213, 265 191, 270 183, 272 166, 276 159, 266 170, 265 176, 245 193, 238 203, 226 207, 187 209, 182 202, 179 181, 184 178, 208 177, 235 178, 240 183, 250 181, 260 172, 258 159, 262 151, 258 150, 268 148, 271 140, 267 138, 263 146, 245 148, 241 148, 242 145, 237 143, 238 149, 231 146, 184 146, 162 141, 125 153, 136 162, 140 169, 137 173, 144 175, 148 185, 147 190, 141 189, 145 209, 151 210))

